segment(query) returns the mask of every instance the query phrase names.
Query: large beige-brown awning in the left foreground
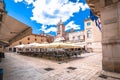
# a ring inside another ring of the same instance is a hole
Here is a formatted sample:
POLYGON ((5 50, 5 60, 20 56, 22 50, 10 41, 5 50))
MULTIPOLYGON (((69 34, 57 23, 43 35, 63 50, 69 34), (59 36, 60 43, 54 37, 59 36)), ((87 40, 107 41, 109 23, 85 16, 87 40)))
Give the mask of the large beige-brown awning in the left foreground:
MULTIPOLYGON (((27 25, 21 23, 20 21, 17 21, 16 19, 8 16, 7 14, 3 15, 3 20, 2 22, 0 22, 1 42, 6 41, 12 43, 14 41, 17 41, 18 39, 23 38, 26 35, 30 35, 31 33, 32 29, 27 25)), ((2 44, 1 42, 0 44, 2 44)))

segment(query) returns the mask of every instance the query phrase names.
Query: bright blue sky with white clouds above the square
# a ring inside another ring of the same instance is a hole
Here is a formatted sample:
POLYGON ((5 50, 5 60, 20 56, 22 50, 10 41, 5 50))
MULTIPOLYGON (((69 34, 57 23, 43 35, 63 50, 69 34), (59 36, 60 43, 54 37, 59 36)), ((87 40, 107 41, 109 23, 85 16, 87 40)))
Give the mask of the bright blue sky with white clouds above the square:
POLYGON ((85 0, 4 0, 8 15, 30 26, 33 34, 56 35, 57 23, 62 20, 65 31, 84 30, 89 17, 85 0))

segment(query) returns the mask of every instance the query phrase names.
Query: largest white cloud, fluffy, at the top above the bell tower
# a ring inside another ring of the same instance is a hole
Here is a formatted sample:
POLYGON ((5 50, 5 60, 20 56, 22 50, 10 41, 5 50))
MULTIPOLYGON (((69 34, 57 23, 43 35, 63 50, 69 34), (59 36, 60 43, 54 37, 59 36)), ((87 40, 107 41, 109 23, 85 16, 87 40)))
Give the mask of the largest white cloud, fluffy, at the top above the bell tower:
MULTIPOLYGON (((21 2, 23 0, 14 0, 21 2)), ((41 23, 43 25, 56 25, 60 18, 65 22, 73 13, 86 10, 87 4, 73 3, 69 0, 24 0, 28 5, 32 4, 32 17, 31 20, 41 23)), ((77 0, 79 1, 79 0, 77 0)))

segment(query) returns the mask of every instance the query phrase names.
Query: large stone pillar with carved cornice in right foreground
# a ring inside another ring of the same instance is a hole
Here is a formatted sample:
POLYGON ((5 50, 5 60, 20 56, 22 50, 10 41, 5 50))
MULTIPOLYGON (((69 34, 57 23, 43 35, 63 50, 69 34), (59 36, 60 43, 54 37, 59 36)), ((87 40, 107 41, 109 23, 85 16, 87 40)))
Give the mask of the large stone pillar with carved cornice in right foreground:
POLYGON ((120 0, 86 0, 102 24, 102 69, 120 73, 120 0))

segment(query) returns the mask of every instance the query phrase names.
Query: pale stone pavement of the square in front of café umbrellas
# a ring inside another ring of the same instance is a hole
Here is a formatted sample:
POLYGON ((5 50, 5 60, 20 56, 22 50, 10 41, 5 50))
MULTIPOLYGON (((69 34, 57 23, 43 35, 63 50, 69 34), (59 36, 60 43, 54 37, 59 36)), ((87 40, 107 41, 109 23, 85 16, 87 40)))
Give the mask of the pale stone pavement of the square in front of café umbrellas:
POLYGON ((82 54, 61 64, 43 58, 6 53, 0 67, 4 69, 4 80, 119 80, 98 77, 102 71, 101 62, 100 53, 82 54), (46 71, 45 68, 53 70, 46 71))

